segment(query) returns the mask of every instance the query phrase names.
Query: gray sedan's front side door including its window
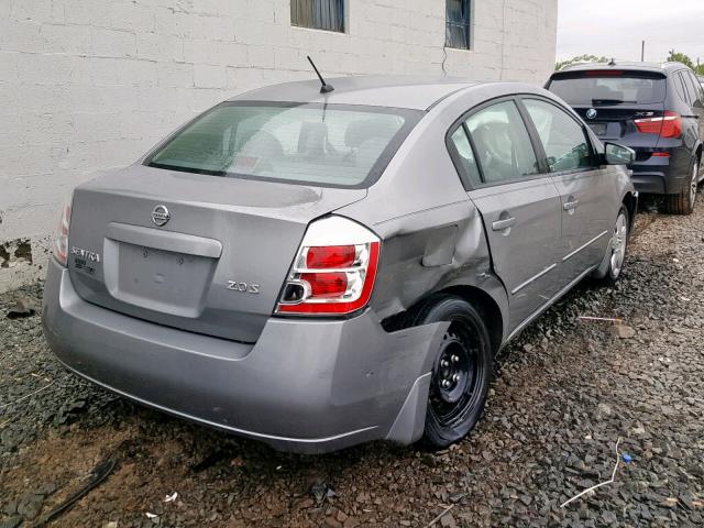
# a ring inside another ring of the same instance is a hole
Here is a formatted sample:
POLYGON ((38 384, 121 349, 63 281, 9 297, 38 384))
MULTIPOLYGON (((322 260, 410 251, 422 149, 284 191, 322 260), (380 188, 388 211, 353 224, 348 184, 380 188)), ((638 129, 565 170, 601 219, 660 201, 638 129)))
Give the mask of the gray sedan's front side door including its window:
POLYGON ((542 98, 522 98, 560 193, 561 275, 572 282, 601 262, 618 200, 616 177, 601 168, 583 123, 542 98), (613 218, 612 218, 613 217, 613 218))

